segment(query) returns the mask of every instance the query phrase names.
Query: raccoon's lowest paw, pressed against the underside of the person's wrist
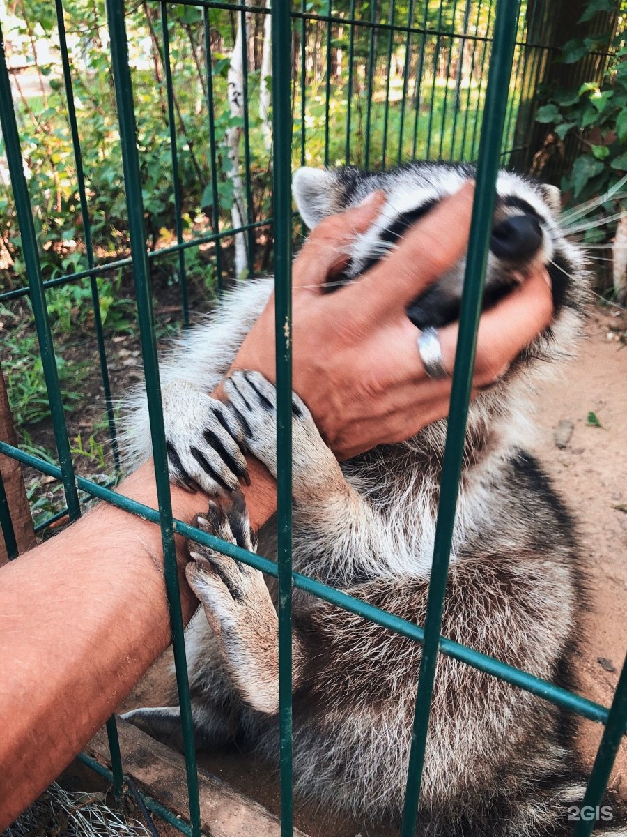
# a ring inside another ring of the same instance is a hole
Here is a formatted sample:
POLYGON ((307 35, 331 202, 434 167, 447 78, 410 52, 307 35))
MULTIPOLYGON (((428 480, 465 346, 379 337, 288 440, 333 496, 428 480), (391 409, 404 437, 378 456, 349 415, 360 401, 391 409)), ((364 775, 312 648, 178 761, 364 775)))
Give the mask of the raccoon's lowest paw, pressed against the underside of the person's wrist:
MULTIPOLYGON (((196 516, 194 526, 250 552, 257 549, 246 502, 239 491, 226 509, 210 501, 206 516, 196 516)), ((204 605, 212 628, 234 626, 241 620, 242 608, 247 608, 259 594, 268 596, 263 574, 258 570, 200 543, 190 543, 189 548, 192 561, 185 569, 187 581, 204 605)))

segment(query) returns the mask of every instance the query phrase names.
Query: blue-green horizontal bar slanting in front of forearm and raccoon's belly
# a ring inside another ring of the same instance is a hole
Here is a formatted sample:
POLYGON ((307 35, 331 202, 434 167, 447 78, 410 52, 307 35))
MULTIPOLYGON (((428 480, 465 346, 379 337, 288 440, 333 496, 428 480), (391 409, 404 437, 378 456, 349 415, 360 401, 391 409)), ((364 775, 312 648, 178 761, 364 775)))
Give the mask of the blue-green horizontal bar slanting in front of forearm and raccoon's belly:
MULTIPOLYGON (((29 465, 31 468, 41 471, 43 474, 60 478, 60 469, 58 465, 50 465, 49 462, 39 459, 33 454, 24 453, 22 450, 13 447, 12 444, 0 441, 0 453, 13 457, 23 465, 29 465)), ((159 511, 145 506, 135 500, 130 500, 123 494, 118 494, 110 488, 105 488, 104 485, 87 480, 82 476, 77 476, 76 481, 79 489, 85 491, 99 500, 104 500, 112 506, 116 506, 123 511, 129 511, 135 516, 141 517, 150 523, 160 523, 159 511)), ((261 570, 262 573, 268 575, 278 576, 277 564, 268 560, 254 552, 247 552, 242 547, 237 547, 235 544, 221 541, 219 538, 209 535, 207 532, 190 526, 188 523, 174 519, 174 530, 177 534, 188 538, 196 543, 201 543, 203 546, 217 549, 224 555, 235 558, 237 561, 247 564, 248 567, 261 570)), ((293 584, 295 587, 304 590, 305 593, 310 593, 313 596, 324 599, 329 604, 335 604, 339 608, 349 611, 349 613, 363 616, 364 619, 370 619, 371 622, 379 624, 382 628, 387 628, 394 631, 396 634, 407 637, 407 639, 415 639, 417 642, 422 642, 425 636, 424 629, 419 625, 408 622, 406 619, 401 619, 400 616, 390 614, 386 610, 375 607, 373 604, 368 604, 361 601, 359 598, 349 596, 348 593, 342 593, 335 588, 329 587, 327 584, 317 581, 314 578, 309 578, 301 573, 293 573, 293 584)), ((555 686, 548 680, 543 680, 535 675, 530 675, 528 672, 515 668, 513 665, 503 663, 501 660, 496 660, 487 654, 482 654, 481 651, 468 648, 466 645, 454 642, 452 639, 446 639, 441 636, 438 645, 442 654, 453 657, 461 663, 472 665, 474 668, 484 671, 486 674, 495 675, 500 680, 505 680, 512 686, 517 686, 523 691, 531 692, 533 695, 543 698, 543 700, 553 703, 555 706, 561 706, 563 709, 575 712, 589 721, 605 724, 608 720, 609 709, 601 706, 594 701, 589 701, 588 698, 577 695, 575 692, 563 689, 561 686, 555 686)), ((627 733, 627 724, 624 728, 624 733, 627 733)))

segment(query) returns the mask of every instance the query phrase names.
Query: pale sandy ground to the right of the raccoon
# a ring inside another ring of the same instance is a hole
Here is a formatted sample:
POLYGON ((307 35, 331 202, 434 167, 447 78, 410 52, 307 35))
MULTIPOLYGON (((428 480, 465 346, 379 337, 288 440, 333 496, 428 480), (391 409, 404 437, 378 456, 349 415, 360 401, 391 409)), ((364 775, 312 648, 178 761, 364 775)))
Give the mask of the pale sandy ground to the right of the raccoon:
MULTIPOLYGON (((588 636, 579 660, 582 694, 609 706, 627 650, 627 316, 599 309, 589 339, 558 383, 547 386, 538 411, 537 453, 579 521, 592 578, 588 636), (601 427, 588 424, 595 413, 601 427), (555 444, 560 421, 574 424, 565 449, 555 444), (599 660, 602 660, 599 661, 599 660)), ((594 760, 601 727, 583 721, 579 751, 594 760)), ((627 742, 610 784, 627 797, 627 742)))

